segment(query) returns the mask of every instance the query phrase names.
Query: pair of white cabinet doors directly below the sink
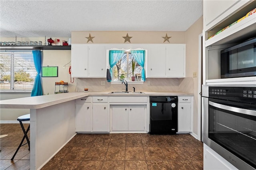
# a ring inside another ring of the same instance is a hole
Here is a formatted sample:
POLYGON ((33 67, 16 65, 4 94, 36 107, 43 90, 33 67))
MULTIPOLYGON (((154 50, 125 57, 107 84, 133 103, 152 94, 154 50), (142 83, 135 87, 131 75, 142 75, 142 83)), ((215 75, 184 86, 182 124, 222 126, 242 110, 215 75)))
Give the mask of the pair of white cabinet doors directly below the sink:
POLYGON ((112 106, 112 131, 144 131, 145 106, 112 106))

